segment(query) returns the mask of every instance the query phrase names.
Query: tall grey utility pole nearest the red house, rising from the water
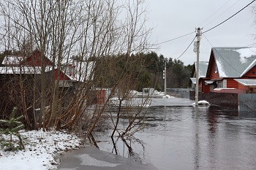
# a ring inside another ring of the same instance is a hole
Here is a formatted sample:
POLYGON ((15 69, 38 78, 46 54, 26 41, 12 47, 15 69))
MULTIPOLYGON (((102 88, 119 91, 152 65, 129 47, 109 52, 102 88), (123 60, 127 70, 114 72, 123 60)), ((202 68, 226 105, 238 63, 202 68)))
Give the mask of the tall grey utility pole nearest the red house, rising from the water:
MULTIPOLYGON (((197 69, 196 69, 196 86, 195 86, 195 106, 198 106, 198 90, 199 90, 199 47, 200 47, 200 39, 201 39, 201 29, 197 28, 197 42, 196 44, 196 52, 197 52, 197 69)), ((194 45, 195 45, 194 44, 194 45)))

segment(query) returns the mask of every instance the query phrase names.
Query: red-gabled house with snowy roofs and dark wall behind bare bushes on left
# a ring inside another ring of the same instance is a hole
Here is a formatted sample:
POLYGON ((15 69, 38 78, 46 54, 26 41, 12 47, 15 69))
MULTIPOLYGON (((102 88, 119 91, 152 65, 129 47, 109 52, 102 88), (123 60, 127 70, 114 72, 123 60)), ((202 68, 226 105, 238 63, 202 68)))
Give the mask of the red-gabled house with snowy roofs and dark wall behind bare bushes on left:
MULTIPOLYGON (((81 83, 87 82, 89 78, 93 79, 93 66, 94 62, 72 61, 58 68, 48 57, 41 55, 39 50, 34 50, 28 56, 6 55, 0 66, 0 112, 10 113, 14 106, 20 105, 20 95, 26 96, 26 104, 29 107, 34 95, 39 97, 42 72, 45 72, 45 83, 48 88, 46 95, 50 98, 55 80, 65 101, 70 101, 74 96, 74 90, 78 89, 81 83), (42 63, 45 63, 44 70, 42 63)), ((39 100, 35 107, 40 107, 39 100)))

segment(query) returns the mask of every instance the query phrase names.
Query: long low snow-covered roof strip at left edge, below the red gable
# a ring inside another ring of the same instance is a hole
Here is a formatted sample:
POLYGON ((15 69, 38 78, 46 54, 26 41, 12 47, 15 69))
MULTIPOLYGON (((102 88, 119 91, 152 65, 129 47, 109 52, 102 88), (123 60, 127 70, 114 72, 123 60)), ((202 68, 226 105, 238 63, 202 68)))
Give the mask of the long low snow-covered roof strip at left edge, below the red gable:
MULTIPOLYGON (((50 72, 53 69, 52 66, 45 67, 45 72, 50 72)), ((0 74, 41 74, 40 66, 1 66, 0 74)))

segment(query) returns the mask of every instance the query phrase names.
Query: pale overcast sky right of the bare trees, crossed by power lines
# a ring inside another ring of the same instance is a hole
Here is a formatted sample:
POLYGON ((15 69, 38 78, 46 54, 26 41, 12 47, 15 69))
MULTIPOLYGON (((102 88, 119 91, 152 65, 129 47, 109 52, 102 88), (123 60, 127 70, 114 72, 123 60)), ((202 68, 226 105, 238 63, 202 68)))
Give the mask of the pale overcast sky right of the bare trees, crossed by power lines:
MULTIPOLYGON (((191 33, 195 28, 203 28, 203 31, 216 26, 252 0, 147 0, 148 3, 148 26, 154 26, 151 34, 152 42, 165 42, 178 36, 191 33)), ((200 42, 200 61, 208 61, 211 47, 245 47, 255 45, 255 16, 254 2, 249 7, 238 13, 227 22, 206 32, 200 42), (207 40, 207 39, 208 40, 207 40), (211 43, 211 44, 210 44, 211 43)), ((157 54, 165 58, 178 58, 186 50, 195 33, 166 42, 159 45, 157 54)), ((196 61, 196 53, 193 52, 193 44, 181 61, 184 65, 196 61)))

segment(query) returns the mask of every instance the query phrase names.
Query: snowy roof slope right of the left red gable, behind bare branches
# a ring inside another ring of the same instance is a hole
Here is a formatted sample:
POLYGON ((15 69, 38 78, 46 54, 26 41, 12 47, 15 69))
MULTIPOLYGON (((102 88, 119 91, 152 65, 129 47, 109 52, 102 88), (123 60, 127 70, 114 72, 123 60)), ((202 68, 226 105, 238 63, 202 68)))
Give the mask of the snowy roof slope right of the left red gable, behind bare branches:
POLYGON ((74 66, 74 67, 72 67, 72 66, 66 67, 63 69, 63 72, 72 81, 84 82, 85 80, 89 80, 89 77, 92 74, 92 69, 93 69, 94 63, 95 62, 93 62, 93 61, 91 61, 91 62, 75 62, 75 63, 72 63, 72 66, 74 66))

